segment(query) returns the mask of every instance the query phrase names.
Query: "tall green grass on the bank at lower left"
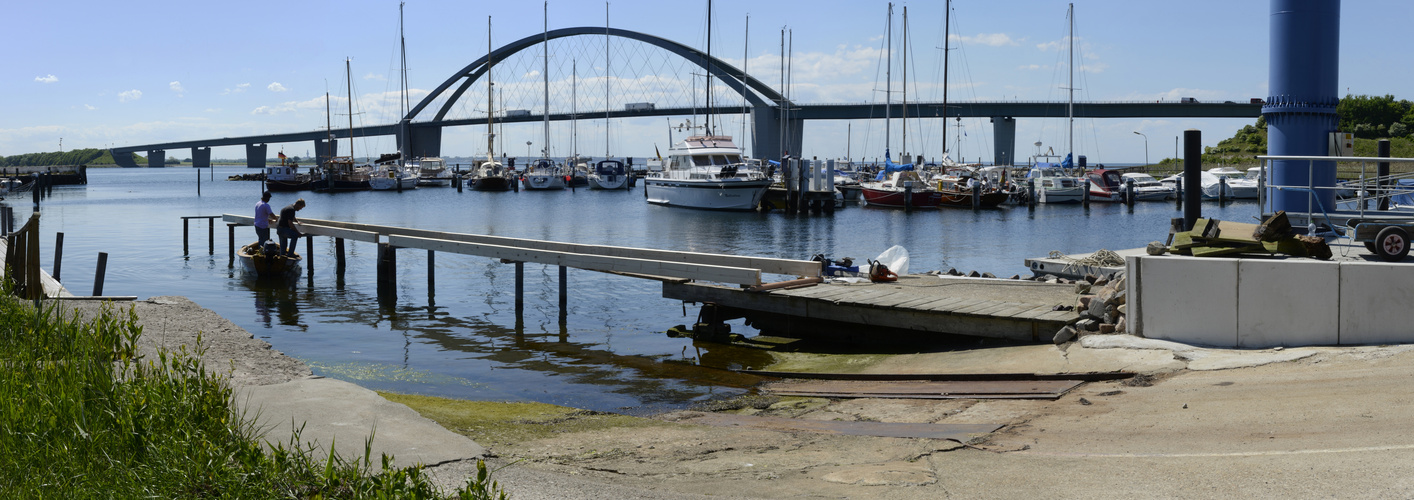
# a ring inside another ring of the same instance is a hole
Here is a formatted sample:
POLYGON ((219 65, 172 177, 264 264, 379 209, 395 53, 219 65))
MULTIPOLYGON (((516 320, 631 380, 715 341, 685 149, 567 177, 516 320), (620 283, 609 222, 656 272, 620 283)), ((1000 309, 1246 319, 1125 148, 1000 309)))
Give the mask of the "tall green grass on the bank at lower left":
MULTIPOLYGON (((92 321, 0 297, 0 497, 493 499, 484 463, 451 494, 396 469, 253 438, 195 352, 139 359, 136 314, 92 321)), ((198 347, 199 349, 199 339, 198 347)), ((369 438, 372 439, 372 436, 369 438)), ((329 446, 332 449, 332 446, 329 446)))

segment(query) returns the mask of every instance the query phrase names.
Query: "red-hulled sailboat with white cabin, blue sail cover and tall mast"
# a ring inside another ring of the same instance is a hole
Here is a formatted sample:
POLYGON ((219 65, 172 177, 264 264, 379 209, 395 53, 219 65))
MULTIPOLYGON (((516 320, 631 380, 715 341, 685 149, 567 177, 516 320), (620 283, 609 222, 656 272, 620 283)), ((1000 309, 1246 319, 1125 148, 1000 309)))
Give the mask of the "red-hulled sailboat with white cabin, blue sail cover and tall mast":
MULTIPOLYGON (((908 7, 904 7, 904 23, 908 24, 908 7)), ((889 124, 894 121, 889 114, 892 114, 892 68, 894 68, 894 4, 888 4, 888 52, 885 58, 888 65, 885 69, 885 90, 884 90, 884 140, 889 138, 889 124)), ((906 32, 906 31, 905 31, 906 32)), ((905 44, 906 45, 906 44, 905 44)), ((905 83, 906 85, 906 83, 905 83)), ((904 109, 908 109, 908 100, 904 100, 904 109)), ((860 196, 864 199, 865 205, 870 206, 885 206, 885 208, 937 208, 939 196, 933 188, 923 182, 913 169, 913 164, 895 164, 889 157, 889 148, 884 147, 884 169, 878 172, 874 181, 860 184, 860 196)))

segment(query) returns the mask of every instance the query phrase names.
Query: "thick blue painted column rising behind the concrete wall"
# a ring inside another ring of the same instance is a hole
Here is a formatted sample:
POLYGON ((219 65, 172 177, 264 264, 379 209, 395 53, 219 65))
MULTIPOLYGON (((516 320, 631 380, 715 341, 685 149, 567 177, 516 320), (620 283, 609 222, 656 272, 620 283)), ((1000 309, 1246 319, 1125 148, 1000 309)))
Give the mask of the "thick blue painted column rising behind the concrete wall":
MULTIPOLYGON (((1326 155, 1339 117, 1339 0, 1271 0, 1271 66, 1267 105, 1268 155, 1326 155)), ((1275 161, 1273 185, 1335 185, 1335 162, 1275 161)), ((1321 206, 1335 206, 1335 192, 1316 189, 1321 206)), ((1308 194, 1268 189, 1271 210, 1319 212, 1308 194)))

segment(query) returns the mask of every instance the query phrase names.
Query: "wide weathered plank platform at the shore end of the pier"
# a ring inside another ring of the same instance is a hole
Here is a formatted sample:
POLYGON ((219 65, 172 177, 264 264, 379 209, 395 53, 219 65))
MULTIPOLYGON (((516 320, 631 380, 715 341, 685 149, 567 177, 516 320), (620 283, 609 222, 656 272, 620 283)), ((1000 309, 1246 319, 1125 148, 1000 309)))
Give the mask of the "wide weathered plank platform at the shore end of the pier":
POLYGON ((896 282, 820 284, 752 292, 665 282, 663 297, 756 314, 846 323, 868 332, 901 329, 1041 342, 1077 319, 1075 285, 1019 280, 904 275, 896 282))

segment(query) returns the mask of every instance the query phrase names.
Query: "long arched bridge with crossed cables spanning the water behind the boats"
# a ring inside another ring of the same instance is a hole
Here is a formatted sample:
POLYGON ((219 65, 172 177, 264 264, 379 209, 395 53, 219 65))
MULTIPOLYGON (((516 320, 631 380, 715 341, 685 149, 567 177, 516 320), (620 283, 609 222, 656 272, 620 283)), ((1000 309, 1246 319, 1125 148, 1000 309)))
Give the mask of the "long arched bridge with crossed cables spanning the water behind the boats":
MULTIPOLYGON (((797 154, 802 145, 802 130, 805 120, 857 120, 884 117, 882 106, 868 103, 841 105, 809 105, 786 102, 786 99, 766 86, 761 81, 744 73, 741 69, 717 58, 710 58, 696 48, 670 41, 666 38, 642 34, 636 31, 605 28, 605 27, 575 27, 560 28, 520 38, 506 44, 491 54, 471 62, 419 102, 396 124, 369 126, 349 130, 314 130, 303 133, 264 134, 250 137, 222 137, 208 140, 189 140, 163 144, 126 145, 113 148, 113 157, 119 164, 136 167, 133 153, 147 151, 148 164, 158 167, 165 158, 165 150, 191 148, 192 162, 197 167, 211 164, 211 147, 216 145, 246 145, 246 158, 252 167, 263 167, 266 158, 266 144, 312 141, 314 151, 322 162, 325 157, 337 154, 337 145, 328 141, 329 137, 346 138, 351 136, 397 136, 400 150, 406 150, 413 157, 436 157, 441 154, 441 131, 444 127, 485 124, 486 117, 450 119, 452 107, 462 99, 468 89, 485 78, 486 72, 498 62, 530 49, 550 40, 567 37, 617 37, 639 41, 667 51, 714 76, 718 82, 741 95, 749 103, 752 120, 752 157, 775 158, 783 151, 797 154), (445 96, 445 97, 443 97, 445 96), (782 112, 786 110, 786 113, 782 112), (782 134, 782 130, 786 133, 782 134), (782 144, 782 138, 785 144, 782 144), (406 148, 402 147, 406 144, 406 148)), ((482 82, 484 83, 484 82, 482 82)), ((713 113, 740 113, 742 106, 717 106, 713 113)), ((642 117, 642 116, 683 116, 701 113, 704 109, 691 107, 653 107, 653 109, 618 109, 594 112, 594 117, 642 117)), ((543 113, 543 110, 542 110, 543 113)), ((895 103, 889 110, 891 116, 904 116, 904 105, 895 103)), ((588 116, 590 113, 578 113, 588 116)), ((994 158, 998 162, 1010 162, 1015 150, 1015 120, 1017 117, 1065 117, 1066 106, 1058 102, 962 102, 949 103, 943 113, 940 102, 909 103, 906 116, 913 117, 991 117, 994 129, 994 158)), ((1075 103, 1076 117, 1257 117, 1261 116, 1261 103, 1075 103)), ((570 113, 550 113, 550 120, 568 120, 570 113)), ((498 117, 496 121, 540 121, 543 114, 520 114, 513 117, 498 117)))

